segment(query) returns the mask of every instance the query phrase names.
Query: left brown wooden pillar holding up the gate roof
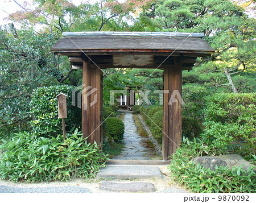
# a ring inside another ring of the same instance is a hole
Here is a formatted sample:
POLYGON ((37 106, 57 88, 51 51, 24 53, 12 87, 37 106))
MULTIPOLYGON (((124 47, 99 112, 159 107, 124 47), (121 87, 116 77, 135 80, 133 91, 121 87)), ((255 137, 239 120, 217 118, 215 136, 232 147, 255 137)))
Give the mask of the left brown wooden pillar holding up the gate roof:
POLYGON ((82 133, 87 142, 102 147, 102 72, 90 68, 90 61, 83 61, 82 83, 82 133))

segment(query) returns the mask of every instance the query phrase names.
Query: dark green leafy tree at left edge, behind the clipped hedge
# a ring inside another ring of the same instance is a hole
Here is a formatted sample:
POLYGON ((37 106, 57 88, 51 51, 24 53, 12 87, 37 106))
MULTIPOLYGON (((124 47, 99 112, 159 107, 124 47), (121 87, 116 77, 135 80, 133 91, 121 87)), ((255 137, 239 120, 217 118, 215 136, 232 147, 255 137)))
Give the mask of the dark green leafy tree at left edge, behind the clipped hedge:
POLYGON ((54 35, 32 30, 15 33, 14 37, 7 28, 0 30, 0 128, 9 130, 27 126, 33 90, 58 84, 68 68, 62 58, 49 52, 56 42, 54 35))

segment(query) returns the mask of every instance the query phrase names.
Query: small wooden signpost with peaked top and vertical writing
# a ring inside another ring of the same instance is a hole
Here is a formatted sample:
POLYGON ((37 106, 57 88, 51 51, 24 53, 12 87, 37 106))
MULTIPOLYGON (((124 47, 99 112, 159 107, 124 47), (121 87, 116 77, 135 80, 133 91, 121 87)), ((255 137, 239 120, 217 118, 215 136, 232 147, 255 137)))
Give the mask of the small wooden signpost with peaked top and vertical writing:
POLYGON ((66 139, 65 118, 67 118, 67 95, 60 93, 57 96, 59 118, 62 118, 63 140, 66 139))

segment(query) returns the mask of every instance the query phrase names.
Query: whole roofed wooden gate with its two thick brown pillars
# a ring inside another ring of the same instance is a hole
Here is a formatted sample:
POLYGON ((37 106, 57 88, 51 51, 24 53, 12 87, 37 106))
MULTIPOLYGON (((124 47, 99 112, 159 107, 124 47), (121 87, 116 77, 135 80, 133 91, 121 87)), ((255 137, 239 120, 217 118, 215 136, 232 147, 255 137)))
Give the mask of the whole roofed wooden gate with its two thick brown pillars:
POLYGON ((182 95, 181 71, 191 70, 197 57, 210 56, 204 35, 183 32, 63 32, 51 48, 68 56, 73 69, 82 69, 82 83, 96 92, 82 91, 82 133, 88 142, 102 146, 102 69, 163 69, 163 159, 167 160, 182 136, 181 101, 169 102, 172 93, 182 95), (94 105, 90 105, 91 103, 94 105))

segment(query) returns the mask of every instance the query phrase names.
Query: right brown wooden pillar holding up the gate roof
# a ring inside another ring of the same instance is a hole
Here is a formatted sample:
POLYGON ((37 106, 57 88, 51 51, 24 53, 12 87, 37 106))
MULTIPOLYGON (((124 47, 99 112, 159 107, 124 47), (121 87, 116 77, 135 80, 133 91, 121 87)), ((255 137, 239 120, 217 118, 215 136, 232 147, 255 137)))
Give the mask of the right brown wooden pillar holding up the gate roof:
POLYGON ((175 68, 164 69, 164 90, 169 93, 164 94, 163 102, 163 159, 167 160, 169 156, 174 154, 180 146, 182 136, 182 109, 181 101, 175 97, 177 102, 170 103, 170 99, 174 90, 177 90, 182 96, 182 76, 180 64, 176 64, 175 68))

